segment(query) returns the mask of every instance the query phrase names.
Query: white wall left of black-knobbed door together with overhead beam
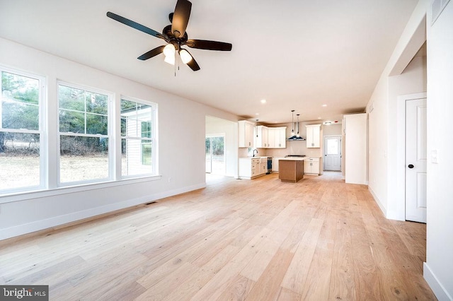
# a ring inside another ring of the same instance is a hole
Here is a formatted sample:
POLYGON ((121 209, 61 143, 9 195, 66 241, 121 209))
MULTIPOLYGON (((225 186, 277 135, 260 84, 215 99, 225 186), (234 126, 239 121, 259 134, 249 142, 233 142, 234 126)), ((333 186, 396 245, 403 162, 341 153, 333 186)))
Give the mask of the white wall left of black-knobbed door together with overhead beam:
POLYGON ((398 95, 425 91, 426 71, 423 58, 412 62, 411 59, 425 42, 427 5, 428 1, 420 0, 415 7, 367 105, 369 114, 368 188, 384 215, 398 220, 404 220, 404 208, 401 207, 401 197, 398 199, 398 191, 401 187, 395 184, 396 168, 400 164, 396 162, 398 158, 397 100, 398 95), (391 76, 391 74, 398 75, 391 76))

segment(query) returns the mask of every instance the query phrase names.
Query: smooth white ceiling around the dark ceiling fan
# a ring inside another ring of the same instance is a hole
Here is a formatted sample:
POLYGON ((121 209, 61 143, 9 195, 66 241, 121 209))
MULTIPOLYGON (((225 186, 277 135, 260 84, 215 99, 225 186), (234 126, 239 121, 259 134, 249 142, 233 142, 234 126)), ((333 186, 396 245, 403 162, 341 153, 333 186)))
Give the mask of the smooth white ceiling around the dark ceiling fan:
POLYGON ((176 0, 0 0, 0 37, 260 123, 340 120, 365 109, 418 0, 192 2, 189 38, 233 49, 190 49, 201 70, 176 76, 163 54, 137 59, 163 40, 105 16, 161 32, 176 0))

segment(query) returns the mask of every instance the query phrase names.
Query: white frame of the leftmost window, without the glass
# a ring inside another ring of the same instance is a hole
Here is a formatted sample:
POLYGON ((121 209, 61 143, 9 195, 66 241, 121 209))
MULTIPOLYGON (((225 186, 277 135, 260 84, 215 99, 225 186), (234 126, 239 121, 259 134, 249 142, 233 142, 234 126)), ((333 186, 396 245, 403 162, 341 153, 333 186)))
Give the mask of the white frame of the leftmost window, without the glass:
MULTIPOLYGON (((13 133, 23 133, 23 134, 38 134, 40 136, 40 179, 38 185, 16 187, 12 189, 1 189, 0 196, 4 194, 15 194, 28 191, 38 191, 47 188, 47 177, 48 177, 48 167, 47 167, 47 154, 48 154, 48 141, 47 141, 47 114, 45 108, 47 108, 47 83, 45 76, 40 76, 35 73, 25 72, 18 69, 11 69, 5 66, 0 65, 0 80, 2 78, 1 73, 11 73, 17 76, 23 76, 27 78, 33 78, 38 81, 38 130, 30 129, 4 129, 2 127, 2 110, 3 106, 1 102, 3 101, 3 93, 1 89, 0 81, 0 131, 2 132, 13 132, 13 133)), ((0 202, 1 203, 1 202, 0 202)))

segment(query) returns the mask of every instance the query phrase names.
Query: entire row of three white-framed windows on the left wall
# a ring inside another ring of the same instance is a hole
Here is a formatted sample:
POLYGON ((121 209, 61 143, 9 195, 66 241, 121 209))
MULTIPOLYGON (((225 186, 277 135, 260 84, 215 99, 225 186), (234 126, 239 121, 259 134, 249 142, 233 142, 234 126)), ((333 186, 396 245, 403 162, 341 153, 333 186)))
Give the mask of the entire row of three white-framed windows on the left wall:
POLYGON ((2 66, 0 76, 0 203, 5 194, 156 175, 155 103, 59 81, 47 100, 43 77, 2 66))

